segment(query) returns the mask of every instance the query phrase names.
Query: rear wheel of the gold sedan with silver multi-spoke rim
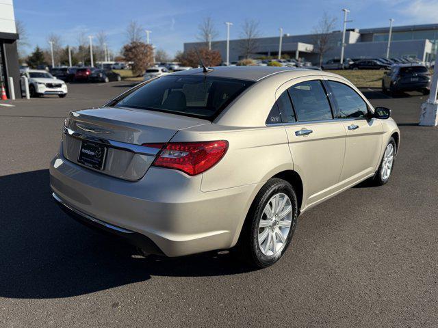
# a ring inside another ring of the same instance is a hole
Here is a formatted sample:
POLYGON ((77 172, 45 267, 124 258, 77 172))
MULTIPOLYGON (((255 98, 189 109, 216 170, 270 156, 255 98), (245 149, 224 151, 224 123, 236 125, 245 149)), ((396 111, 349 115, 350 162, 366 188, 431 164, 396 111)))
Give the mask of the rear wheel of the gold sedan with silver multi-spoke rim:
POLYGON ((260 189, 250 207, 237 248, 253 267, 278 261, 292 241, 298 217, 294 187, 272 178, 260 189))

